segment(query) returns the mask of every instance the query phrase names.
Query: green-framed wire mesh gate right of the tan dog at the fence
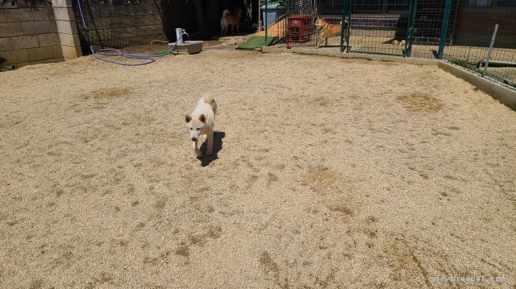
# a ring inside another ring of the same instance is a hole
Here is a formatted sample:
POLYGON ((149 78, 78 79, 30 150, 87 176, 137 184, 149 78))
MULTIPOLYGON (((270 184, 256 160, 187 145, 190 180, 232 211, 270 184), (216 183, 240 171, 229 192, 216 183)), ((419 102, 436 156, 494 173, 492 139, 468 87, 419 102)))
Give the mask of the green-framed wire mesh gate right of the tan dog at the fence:
POLYGON ((454 0, 353 1, 342 4, 340 52, 410 57, 413 45, 442 59, 454 0), (347 34, 347 37, 342 37, 347 34))

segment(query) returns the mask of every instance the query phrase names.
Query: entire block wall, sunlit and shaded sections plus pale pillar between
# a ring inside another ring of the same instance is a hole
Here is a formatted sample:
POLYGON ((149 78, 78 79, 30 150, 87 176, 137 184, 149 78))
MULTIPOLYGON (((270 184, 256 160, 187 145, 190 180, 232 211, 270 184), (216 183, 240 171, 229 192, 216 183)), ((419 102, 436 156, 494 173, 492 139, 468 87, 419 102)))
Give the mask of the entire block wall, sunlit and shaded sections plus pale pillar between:
MULTIPOLYGON (((111 4, 82 0, 94 49, 166 40, 159 5, 153 1, 113 5, 112 0, 111 4)), ((74 0, 51 0, 52 5, 37 2, 37 7, 0 6, 0 57, 7 59, 4 66, 20 68, 90 53, 74 0)))

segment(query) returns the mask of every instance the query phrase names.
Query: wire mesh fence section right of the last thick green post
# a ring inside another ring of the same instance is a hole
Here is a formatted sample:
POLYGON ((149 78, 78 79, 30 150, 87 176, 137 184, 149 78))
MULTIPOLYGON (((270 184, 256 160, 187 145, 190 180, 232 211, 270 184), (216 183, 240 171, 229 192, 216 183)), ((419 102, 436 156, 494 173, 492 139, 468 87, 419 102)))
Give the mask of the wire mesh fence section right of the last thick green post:
POLYGON ((466 69, 484 73, 495 25, 490 64, 485 73, 516 87, 516 0, 468 0, 459 5, 451 44, 444 50, 444 59, 466 69))

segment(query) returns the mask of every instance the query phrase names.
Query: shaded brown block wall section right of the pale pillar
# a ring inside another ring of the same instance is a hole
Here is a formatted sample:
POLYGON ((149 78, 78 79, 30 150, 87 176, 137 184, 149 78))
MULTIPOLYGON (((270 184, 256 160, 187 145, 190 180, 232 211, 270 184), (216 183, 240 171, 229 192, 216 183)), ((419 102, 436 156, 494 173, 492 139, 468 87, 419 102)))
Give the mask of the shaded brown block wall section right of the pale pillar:
MULTIPOLYGON (((98 4, 96 1, 82 0, 82 4, 84 20, 94 49, 149 45, 152 40, 167 40, 159 4, 152 0, 129 5, 98 4)), ((75 18, 79 23, 77 27, 83 51, 87 52, 89 46, 77 7, 75 18)))

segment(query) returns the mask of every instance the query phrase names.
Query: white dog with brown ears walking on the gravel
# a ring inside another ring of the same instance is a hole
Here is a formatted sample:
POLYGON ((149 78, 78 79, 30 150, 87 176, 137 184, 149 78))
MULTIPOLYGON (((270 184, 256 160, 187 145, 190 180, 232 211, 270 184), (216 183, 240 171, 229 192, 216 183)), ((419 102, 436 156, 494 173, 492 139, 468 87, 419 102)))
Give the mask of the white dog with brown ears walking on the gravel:
POLYGON ((190 138, 194 152, 198 157, 203 153, 197 148, 199 136, 206 134, 208 148, 206 155, 213 155, 213 126, 215 126, 215 113, 217 113, 217 102, 213 93, 205 93, 197 102, 197 106, 191 114, 186 114, 186 129, 190 132, 190 138))

